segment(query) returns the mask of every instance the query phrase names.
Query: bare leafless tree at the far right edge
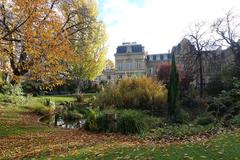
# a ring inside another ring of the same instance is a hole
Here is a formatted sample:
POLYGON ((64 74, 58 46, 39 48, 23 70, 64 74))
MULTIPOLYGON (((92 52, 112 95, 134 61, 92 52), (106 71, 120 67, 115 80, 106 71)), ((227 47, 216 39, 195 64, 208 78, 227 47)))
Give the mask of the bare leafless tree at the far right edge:
POLYGON ((233 76, 240 78, 240 18, 232 11, 226 13, 225 17, 218 18, 212 25, 213 31, 217 33, 216 38, 220 45, 229 47, 234 55, 233 76))

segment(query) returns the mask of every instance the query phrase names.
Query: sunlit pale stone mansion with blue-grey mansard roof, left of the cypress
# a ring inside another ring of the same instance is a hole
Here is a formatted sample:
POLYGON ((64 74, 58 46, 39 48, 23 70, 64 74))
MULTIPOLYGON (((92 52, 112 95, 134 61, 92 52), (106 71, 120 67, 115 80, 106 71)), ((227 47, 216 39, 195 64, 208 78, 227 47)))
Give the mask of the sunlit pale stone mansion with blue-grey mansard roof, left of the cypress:
POLYGON ((122 43, 116 49, 115 70, 105 69, 97 81, 114 82, 124 77, 156 76, 157 66, 171 60, 170 53, 148 54, 142 44, 122 43))

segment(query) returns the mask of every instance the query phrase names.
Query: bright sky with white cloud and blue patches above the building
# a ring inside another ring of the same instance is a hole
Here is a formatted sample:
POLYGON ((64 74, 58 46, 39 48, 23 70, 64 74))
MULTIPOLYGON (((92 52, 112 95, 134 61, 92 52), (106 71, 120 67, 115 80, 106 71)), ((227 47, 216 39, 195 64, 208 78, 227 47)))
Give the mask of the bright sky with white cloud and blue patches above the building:
POLYGON ((141 43, 149 54, 166 53, 195 22, 212 22, 230 9, 240 13, 240 0, 98 0, 98 5, 112 60, 122 42, 141 43))

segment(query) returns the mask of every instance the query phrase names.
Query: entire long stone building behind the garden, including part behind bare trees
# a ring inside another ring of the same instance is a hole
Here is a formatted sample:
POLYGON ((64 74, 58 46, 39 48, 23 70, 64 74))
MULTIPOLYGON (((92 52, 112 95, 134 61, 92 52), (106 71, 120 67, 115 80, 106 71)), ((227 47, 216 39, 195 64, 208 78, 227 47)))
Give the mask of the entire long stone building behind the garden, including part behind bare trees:
MULTIPOLYGON (((176 55, 176 63, 183 67, 185 73, 193 74, 193 84, 199 85, 199 65, 195 56, 196 49, 187 39, 183 39, 172 48, 171 53, 148 54, 144 46, 132 43, 123 43, 116 49, 115 70, 104 70, 103 75, 98 77, 98 82, 103 80, 115 82, 124 77, 157 76, 158 66, 162 63, 171 62, 171 55, 176 55)), ((203 51, 203 81, 207 84, 213 77, 221 74, 233 62, 234 56, 230 48, 222 50, 203 51)))

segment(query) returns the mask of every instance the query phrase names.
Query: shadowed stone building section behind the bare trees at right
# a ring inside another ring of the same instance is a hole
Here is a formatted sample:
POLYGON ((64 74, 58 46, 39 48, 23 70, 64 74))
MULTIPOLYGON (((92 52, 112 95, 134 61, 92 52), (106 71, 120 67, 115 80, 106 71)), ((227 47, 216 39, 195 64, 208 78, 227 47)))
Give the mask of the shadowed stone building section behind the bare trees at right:
MULTIPOLYGON (((176 55, 176 62, 183 66, 184 71, 191 72, 194 76, 194 84, 199 85, 199 60, 197 59, 196 49, 188 39, 183 39, 178 45, 172 48, 172 53, 176 55)), ((212 78, 223 73, 223 71, 233 62, 233 53, 230 48, 203 51, 202 68, 203 83, 207 84, 212 78)))

